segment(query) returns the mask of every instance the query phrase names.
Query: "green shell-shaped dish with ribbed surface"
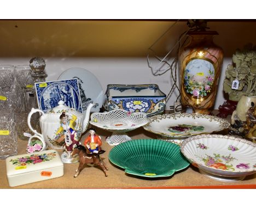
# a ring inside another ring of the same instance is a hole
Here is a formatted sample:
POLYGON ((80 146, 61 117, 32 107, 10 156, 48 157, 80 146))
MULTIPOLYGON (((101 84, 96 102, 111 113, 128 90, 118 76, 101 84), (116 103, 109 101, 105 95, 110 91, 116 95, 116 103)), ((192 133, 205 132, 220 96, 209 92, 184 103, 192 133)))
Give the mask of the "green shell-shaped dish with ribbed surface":
POLYGON ((158 139, 136 139, 115 146, 109 160, 126 173, 149 178, 167 177, 189 166, 177 144, 158 139))

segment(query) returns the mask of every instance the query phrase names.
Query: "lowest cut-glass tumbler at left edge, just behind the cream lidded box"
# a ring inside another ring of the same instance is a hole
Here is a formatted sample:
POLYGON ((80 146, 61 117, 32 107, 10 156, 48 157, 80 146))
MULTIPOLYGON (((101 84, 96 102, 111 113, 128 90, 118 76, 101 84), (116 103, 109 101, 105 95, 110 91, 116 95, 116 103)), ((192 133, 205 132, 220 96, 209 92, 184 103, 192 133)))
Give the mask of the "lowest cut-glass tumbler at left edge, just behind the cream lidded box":
POLYGON ((16 123, 11 121, 0 121, 0 159, 17 155, 18 137, 16 123))

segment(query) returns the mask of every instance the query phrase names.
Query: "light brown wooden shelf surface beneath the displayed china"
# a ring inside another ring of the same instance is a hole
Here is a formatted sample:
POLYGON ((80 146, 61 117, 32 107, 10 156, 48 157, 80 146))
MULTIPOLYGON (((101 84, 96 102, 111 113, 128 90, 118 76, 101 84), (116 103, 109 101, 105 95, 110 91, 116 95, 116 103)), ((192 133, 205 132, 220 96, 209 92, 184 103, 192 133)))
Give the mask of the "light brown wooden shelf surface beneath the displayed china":
MULTIPOLYGON (((132 139, 156 138, 155 134, 145 131, 142 127, 127 133, 132 139)), ((225 133, 227 132, 220 132, 225 133)), ((227 183, 206 178, 191 165, 167 178, 149 179, 126 174, 123 169, 115 167, 108 160, 108 153, 113 146, 108 145, 105 138, 111 133, 97 129, 97 134, 102 136, 102 149, 106 150, 101 158, 109 168, 108 177, 105 177, 102 170, 97 167, 86 167, 77 178, 74 178, 78 163, 64 164, 64 175, 60 178, 9 187, 5 161, 0 160, 0 188, 256 188, 256 174, 249 175, 242 181, 227 183)), ((82 143, 87 135, 88 132, 82 136, 82 143)), ((26 145, 27 141, 19 139, 18 154, 25 154, 26 145)), ((62 153, 62 150, 57 151, 62 153)))

